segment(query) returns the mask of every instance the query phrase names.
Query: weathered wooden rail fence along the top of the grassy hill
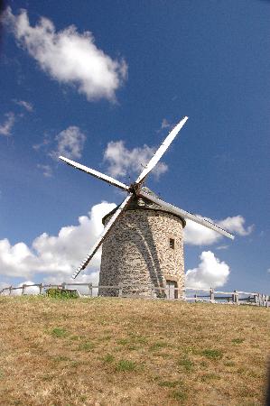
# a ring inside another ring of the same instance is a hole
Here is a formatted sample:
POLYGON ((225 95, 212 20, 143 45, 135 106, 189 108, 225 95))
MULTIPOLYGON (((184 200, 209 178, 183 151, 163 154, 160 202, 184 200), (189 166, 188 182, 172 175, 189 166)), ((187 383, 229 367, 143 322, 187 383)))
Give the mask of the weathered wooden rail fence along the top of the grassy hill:
MULTIPOLYGON (((74 282, 74 283, 66 283, 63 282, 59 285, 56 284, 43 284, 43 283, 34 283, 31 285, 26 285, 23 284, 22 286, 9 286, 7 288, 2 289, 0 291, 0 295, 6 296, 6 295, 12 295, 13 292, 15 294, 17 291, 21 291, 21 294, 27 294, 27 289, 29 288, 37 288, 36 291, 30 293, 30 294, 40 294, 42 295, 45 293, 47 289, 50 288, 59 288, 59 289, 70 289, 73 287, 73 289, 77 289, 77 287, 82 288, 85 287, 87 288, 87 291, 83 292, 83 296, 89 296, 89 297, 95 297, 98 296, 98 289, 112 289, 118 291, 118 297, 141 297, 139 296, 136 291, 134 294, 129 294, 126 295, 123 293, 123 285, 117 285, 117 286, 98 286, 98 285, 93 285, 92 283, 79 283, 79 282, 74 282)), ((29 294, 29 293, 28 293, 29 294)), ((270 296, 265 295, 262 293, 257 293, 257 292, 248 292, 248 291, 215 291, 214 289, 210 288, 209 290, 207 289, 200 289, 200 288, 189 288, 186 287, 184 290, 179 289, 179 288, 153 288, 152 294, 150 296, 147 296, 148 298, 152 299, 171 299, 171 300, 186 300, 186 301, 194 301, 194 302, 199 302, 199 301, 208 301, 210 303, 229 303, 229 304, 235 304, 235 305, 240 305, 240 304, 249 304, 249 305, 254 305, 254 306, 263 306, 266 308, 270 308, 270 296)), ((145 297, 146 298, 146 297, 145 297)))

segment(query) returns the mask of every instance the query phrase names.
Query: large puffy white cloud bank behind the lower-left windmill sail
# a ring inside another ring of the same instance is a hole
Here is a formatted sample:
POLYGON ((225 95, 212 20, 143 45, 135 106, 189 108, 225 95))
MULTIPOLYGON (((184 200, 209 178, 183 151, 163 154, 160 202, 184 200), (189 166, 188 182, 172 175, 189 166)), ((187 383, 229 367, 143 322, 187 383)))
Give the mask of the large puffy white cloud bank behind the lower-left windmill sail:
MULTIPOLYGON (((88 216, 79 217, 77 226, 64 226, 58 235, 43 233, 31 247, 23 242, 11 245, 6 238, 0 240, 0 274, 29 279, 43 273, 58 281, 69 278, 101 233, 102 217, 115 207, 107 202, 93 206, 88 216)), ((100 257, 99 251, 89 265, 89 273, 98 271, 100 257)))

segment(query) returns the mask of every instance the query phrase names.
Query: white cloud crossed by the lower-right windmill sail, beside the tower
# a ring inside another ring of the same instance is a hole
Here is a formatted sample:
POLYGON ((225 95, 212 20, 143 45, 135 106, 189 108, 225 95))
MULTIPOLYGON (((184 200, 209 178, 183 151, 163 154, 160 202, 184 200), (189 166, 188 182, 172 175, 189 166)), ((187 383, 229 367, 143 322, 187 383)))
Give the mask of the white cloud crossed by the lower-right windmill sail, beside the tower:
MULTIPOLYGON (((220 221, 213 221, 210 218, 206 219, 236 235, 249 235, 254 228, 254 226, 247 226, 245 228, 246 220, 242 216, 227 217, 220 221)), ((212 245, 222 238, 222 235, 216 231, 210 230, 205 226, 200 226, 200 224, 194 223, 194 221, 186 221, 187 226, 184 228, 184 242, 186 244, 212 245)))

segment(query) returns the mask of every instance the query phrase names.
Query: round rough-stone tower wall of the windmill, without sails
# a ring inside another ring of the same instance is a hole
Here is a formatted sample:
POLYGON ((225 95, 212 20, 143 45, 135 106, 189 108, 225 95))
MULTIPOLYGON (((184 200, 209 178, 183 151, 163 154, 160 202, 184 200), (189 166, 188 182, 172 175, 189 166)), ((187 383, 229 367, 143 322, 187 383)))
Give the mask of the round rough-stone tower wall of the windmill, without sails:
MULTIPOLYGON (((165 287, 165 279, 184 286, 181 218, 156 209, 126 210, 103 244, 99 285, 122 283, 124 294, 150 296, 154 287, 165 287)), ((118 291, 99 289, 99 294, 118 291)))

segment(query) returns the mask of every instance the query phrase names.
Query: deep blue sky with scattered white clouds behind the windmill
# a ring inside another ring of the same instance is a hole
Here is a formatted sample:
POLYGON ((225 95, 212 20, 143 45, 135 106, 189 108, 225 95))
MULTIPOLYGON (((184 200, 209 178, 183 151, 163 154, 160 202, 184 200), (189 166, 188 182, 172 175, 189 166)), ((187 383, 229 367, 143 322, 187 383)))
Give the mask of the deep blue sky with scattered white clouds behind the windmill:
MULTIPOLYGON (((68 280, 112 208, 102 202, 123 198, 59 162, 58 152, 129 183, 188 115, 147 186, 236 234, 232 242, 190 226, 185 268, 194 271, 193 282, 269 292, 270 2, 7 6, 0 60, 2 285, 68 280)), ((97 280, 99 257, 84 280, 97 280)))

